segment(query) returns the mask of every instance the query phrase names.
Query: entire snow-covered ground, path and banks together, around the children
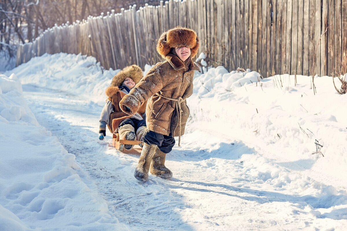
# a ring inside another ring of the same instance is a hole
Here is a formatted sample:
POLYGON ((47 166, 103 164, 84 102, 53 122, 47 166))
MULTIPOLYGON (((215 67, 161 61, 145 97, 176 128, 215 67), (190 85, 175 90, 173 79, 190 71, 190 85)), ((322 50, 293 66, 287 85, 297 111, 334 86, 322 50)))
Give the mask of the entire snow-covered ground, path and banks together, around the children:
POLYGON ((314 95, 307 76, 196 73, 174 177, 139 183, 138 155, 98 140, 115 73, 60 53, 1 76, 0 230, 345 229, 347 96, 331 77, 314 95))

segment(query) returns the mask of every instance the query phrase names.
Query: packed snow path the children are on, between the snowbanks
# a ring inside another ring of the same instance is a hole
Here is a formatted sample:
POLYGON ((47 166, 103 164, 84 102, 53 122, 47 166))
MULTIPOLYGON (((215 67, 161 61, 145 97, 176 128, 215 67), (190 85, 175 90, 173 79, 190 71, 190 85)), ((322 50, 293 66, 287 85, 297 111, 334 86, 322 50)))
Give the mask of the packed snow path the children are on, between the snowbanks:
POLYGON ((32 85, 23 90, 38 122, 75 154, 110 211, 117 211, 130 230, 325 230, 346 224, 346 195, 301 196, 301 188, 315 192, 329 186, 302 175, 300 164, 281 166, 262 156, 260 147, 250 148, 237 133, 189 123, 181 148, 176 145, 167 156, 174 177, 150 175, 139 183, 133 177, 138 155, 118 152, 109 133, 98 140, 101 106, 62 91, 32 85), (274 169, 297 175, 303 185, 280 191, 264 184, 274 169))

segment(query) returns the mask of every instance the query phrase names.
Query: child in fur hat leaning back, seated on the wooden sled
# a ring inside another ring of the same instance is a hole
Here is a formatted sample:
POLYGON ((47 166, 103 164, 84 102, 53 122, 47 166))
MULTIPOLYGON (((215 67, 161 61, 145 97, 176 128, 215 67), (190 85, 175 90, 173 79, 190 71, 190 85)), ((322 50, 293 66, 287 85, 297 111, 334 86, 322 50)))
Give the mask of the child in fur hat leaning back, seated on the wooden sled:
MULTIPOLYGON (((127 115, 119 108, 119 101, 134 88, 142 77, 142 70, 137 65, 127 66, 113 77, 111 86, 105 91, 108 99, 100 115, 100 140, 104 139, 106 126, 108 126, 111 133, 118 131, 120 140, 143 141, 143 134, 147 130, 146 102, 139 105, 134 115, 127 115)), ((125 144, 124 148, 130 150, 133 146, 125 144)))

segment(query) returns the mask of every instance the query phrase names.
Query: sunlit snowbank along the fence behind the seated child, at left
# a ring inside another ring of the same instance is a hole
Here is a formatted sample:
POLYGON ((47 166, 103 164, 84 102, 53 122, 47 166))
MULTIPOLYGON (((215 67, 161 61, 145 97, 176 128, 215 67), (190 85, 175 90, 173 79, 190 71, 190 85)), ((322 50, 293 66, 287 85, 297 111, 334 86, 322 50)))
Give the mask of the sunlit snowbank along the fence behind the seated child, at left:
POLYGON ((104 70, 92 56, 67 53, 44 54, 5 72, 25 76, 20 82, 73 95, 85 96, 102 105, 105 89, 119 70, 104 70), (42 78, 44 76, 45 78, 42 78), (101 97, 102 96, 102 97, 101 97))

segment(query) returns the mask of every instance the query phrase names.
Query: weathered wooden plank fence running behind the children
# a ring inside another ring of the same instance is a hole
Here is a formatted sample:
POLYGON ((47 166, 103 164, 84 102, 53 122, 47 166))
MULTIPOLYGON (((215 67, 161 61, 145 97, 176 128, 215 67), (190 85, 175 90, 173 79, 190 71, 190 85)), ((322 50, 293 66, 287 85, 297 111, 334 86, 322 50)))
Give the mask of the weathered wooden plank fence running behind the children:
POLYGON ((177 25, 194 29, 213 66, 330 75, 347 63, 347 0, 170 0, 46 30, 19 46, 17 65, 44 53, 92 55, 106 69, 161 61, 156 42, 177 25))

